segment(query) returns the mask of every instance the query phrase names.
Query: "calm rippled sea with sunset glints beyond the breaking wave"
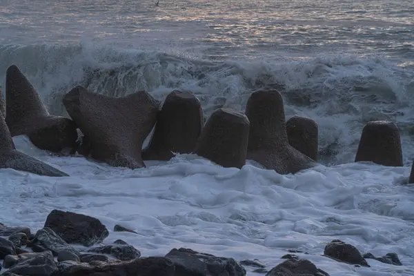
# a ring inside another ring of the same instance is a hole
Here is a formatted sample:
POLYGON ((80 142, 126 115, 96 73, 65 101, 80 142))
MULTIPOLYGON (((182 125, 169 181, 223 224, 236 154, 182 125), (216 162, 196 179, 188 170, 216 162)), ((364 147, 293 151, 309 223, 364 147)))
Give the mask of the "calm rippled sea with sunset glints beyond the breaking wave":
POLYGON ((3 43, 105 41, 208 59, 413 54, 412 1, 3 1, 3 43))

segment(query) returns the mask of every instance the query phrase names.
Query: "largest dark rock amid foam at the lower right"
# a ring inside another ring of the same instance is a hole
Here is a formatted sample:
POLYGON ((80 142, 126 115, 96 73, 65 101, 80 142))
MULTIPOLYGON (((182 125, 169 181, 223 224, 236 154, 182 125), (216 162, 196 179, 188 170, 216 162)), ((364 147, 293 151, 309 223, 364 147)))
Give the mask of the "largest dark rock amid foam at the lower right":
POLYGON ((340 262, 348 264, 359 264, 361 266, 368 266, 366 260, 362 257, 359 250, 351 245, 346 244, 339 239, 334 239, 325 246, 324 255, 336 259, 340 262))

